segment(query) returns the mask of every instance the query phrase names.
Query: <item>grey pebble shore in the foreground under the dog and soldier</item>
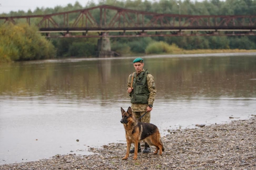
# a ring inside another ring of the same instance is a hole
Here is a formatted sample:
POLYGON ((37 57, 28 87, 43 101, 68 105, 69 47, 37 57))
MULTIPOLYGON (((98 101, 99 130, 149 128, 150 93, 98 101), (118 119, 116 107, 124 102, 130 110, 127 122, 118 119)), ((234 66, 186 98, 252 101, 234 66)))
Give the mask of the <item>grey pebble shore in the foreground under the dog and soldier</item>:
POLYGON ((256 167, 256 115, 248 120, 229 124, 213 124, 195 129, 169 130, 162 137, 165 152, 162 156, 138 154, 126 161, 126 144, 110 143, 90 148, 91 155, 55 155, 34 162, 0 165, 1 170, 80 170, 80 169, 183 169, 183 170, 254 170, 256 167))

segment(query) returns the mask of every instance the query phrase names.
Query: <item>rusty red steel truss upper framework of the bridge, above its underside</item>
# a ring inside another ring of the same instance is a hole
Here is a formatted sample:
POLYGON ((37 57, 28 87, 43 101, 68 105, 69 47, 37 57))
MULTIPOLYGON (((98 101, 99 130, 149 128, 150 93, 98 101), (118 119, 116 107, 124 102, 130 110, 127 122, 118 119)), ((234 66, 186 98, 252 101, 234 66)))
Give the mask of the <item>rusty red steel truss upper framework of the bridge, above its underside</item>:
POLYGON ((168 13, 155 13, 125 9, 110 5, 78 9, 74 11, 59 12, 47 15, 8 16, 0 17, 0 24, 12 22, 19 23, 19 19, 26 19, 31 24, 31 19, 40 19, 37 24, 42 31, 123 31, 136 30, 166 30, 166 29, 256 29, 256 16, 222 16, 222 15, 178 15, 168 13), (98 10, 99 21, 93 15, 98 10), (109 12, 115 15, 108 15, 109 12), (72 14, 72 15, 70 15, 72 14), (69 16, 77 15, 73 23, 69 23, 69 16), (62 17, 63 21, 58 23, 54 17, 62 17), (3 20, 1 22, 1 20, 3 20), (68 28, 68 29, 67 29, 68 28))

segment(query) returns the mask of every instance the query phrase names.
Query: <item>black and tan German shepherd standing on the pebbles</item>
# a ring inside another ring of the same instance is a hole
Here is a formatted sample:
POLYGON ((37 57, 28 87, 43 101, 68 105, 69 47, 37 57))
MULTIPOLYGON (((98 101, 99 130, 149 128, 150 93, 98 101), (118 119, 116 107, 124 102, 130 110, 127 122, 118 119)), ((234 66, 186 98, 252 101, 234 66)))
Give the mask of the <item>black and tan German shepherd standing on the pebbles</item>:
POLYGON ((122 119, 120 122, 124 124, 125 137, 127 141, 126 155, 122 158, 122 160, 128 158, 129 151, 131 149, 131 143, 134 143, 133 160, 137 159, 138 143, 140 141, 147 142, 149 145, 157 147, 154 154, 157 154, 159 150, 159 155, 162 155, 164 148, 157 126, 151 123, 138 122, 138 120, 132 114, 131 107, 129 107, 127 111, 124 111, 124 109, 121 107, 121 113, 122 119))

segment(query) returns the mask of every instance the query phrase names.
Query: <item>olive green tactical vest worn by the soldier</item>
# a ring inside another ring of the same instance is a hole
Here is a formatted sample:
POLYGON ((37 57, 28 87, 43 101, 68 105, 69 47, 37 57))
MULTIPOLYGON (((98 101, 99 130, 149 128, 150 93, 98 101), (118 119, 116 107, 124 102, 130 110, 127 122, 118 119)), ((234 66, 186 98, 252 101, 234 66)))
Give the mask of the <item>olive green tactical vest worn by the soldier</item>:
MULTIPOLYGON (((140 72, 137 78, 136 73, 133 78, 133 91, 130 93, 131 103, 144 103, 147 104, 149 98, 149 91, 147 86, 148 71, 140 72)), ((132 76, 131 76, 132 77, 132 76)), ((131 79, 130 79, 131 80, 131 79)))

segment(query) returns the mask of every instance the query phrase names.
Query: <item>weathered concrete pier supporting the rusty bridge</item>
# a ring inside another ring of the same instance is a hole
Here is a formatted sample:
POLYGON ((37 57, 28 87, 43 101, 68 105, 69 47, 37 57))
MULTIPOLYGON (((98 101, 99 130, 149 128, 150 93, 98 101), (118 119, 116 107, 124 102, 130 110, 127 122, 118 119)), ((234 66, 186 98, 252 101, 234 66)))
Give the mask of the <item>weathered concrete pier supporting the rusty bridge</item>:
MULTIPOLYGON (((106 32, 103 32, 102 35, 107 35, 106 32)), ((109 37, 100 37, 98 39, 98 57, 99 58, 109 58, 113 57, 114 54, 111 51, 110 38, 109 37)))

